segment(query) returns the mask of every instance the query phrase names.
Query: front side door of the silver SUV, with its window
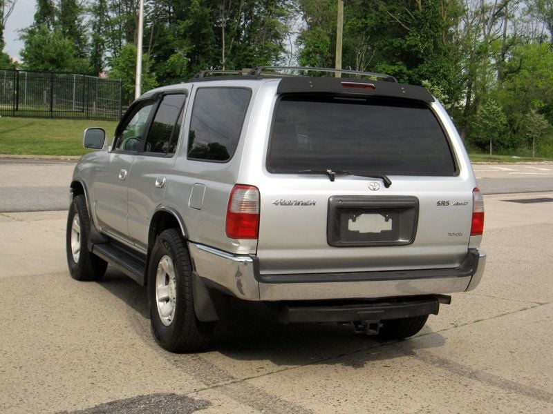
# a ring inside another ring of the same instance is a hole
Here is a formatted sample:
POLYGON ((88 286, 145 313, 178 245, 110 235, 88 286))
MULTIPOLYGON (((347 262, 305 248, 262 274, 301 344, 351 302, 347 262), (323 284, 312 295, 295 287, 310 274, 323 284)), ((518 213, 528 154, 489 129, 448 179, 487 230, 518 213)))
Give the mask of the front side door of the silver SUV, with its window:
POLYGON ((95 175, 93 209, 102 233, 122 241, 129 238, 127 186, 129 175, 156 101, 143 99, 129 108, 115 130, 108 159, 95 175))

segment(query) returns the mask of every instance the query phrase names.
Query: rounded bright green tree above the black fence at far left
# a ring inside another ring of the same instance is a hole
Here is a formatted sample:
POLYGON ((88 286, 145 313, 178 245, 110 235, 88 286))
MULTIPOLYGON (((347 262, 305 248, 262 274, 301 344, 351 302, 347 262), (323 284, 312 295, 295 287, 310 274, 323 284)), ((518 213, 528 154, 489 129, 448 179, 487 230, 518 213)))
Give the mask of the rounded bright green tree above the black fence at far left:
POLYGON ((88 62, 79 57, 73 42, 60 32, 50 32, 48 26, 31 27, 22 35, 23 68, 51 72, 88 73, 88 62))

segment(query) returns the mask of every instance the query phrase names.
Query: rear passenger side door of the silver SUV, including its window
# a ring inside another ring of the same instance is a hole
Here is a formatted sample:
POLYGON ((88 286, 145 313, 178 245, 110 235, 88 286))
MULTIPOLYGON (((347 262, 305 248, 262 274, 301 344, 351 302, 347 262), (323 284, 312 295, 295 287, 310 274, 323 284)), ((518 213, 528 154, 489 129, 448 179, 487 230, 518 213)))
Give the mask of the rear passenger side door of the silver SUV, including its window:
POLYGON ((149 223, 160 206, 171 170, 182 123, 187 92, 166 92, 160 97, 141 152, 135 156, 128 190, 128 227, 131 242, 147 249, 149 223))

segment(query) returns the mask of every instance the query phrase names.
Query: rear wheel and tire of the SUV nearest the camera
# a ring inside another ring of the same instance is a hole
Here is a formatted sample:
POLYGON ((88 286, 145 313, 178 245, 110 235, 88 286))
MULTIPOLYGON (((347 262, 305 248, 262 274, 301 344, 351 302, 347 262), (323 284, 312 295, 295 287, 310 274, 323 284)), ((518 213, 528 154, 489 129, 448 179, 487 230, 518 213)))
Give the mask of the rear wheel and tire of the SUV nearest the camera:
POLYGON ((209 345, 214 322, 194 312, 191 262, 185 242, 174 228, 164 230, 151 250, 148 299, 153 336, 167 351, 200 351, 209 345))

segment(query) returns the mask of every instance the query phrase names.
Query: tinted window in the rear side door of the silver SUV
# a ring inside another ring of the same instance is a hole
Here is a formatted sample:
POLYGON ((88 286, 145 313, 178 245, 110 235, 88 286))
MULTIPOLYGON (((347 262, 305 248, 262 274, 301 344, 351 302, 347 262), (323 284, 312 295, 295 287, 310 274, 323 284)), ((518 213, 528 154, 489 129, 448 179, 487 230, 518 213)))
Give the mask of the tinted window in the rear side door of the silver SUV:
POLYGON ((144 152, 175 153, 185 99, 184 94, 163 97, 146 137, 144 152))

